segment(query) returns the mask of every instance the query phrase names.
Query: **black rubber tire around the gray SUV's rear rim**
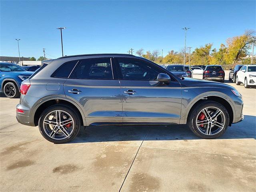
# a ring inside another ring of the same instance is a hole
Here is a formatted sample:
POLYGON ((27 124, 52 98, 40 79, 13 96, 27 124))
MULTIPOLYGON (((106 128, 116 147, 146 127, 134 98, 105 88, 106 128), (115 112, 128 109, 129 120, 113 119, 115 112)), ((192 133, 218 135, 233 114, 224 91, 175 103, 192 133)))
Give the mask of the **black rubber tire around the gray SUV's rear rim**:
POLYGON ((71 141, 72 139, 74 139, 76 137, 76 135, 78 134, 80 127, 81 127, 81 120, 78 116, 78 112, 76 109, 74 109, 71 106, 65 105, 65 104, 56 104, 53 106, 50 106, 48 108, 46 108, 42 114, 40 115, 39 121, 38 121, 38 127, 40 130, 40 133, 42 134, 42 136, 52 142, 52 143, 56 143, 56 144, 60 144, 60 143, 66 143, 71 141), (70 136, 68 138, 64 138, 64 139, 54 139, 51 138, 50 136, 48 136, 48 134, 45 132, 44 130, 44 126, 43 126, 43 121, 44 118, 52 111, 54 110, 62 110, 64 112, 67 112, 74 120, 74 129, 72 131, 72 133, 70 134, 70 136))

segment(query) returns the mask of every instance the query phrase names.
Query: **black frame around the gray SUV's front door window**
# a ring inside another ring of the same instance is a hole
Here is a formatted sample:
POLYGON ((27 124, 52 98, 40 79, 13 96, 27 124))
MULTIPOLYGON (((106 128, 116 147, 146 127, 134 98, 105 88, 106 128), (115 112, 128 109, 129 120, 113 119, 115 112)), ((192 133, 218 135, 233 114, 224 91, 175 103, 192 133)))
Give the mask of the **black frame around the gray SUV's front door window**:
POLYGON ((145 60, 140 59, 140 58, 130 58, 130 57, 116 57, 116 58, 114 58, 114 64, 115 64, 115 66, 117 68, 117 73, 118 73, 118 80, 126 80, 126 81, 157 81, 157 80, 138 80, 138 79, 132 79, 131 80, 131 79, 124 79, 123 76, 122 76, 122 71, 121 71, 120 65, 118 64, 118 61, 117 61, 118 59, 131 59, 131 60, 140 60, 140 61, 146 62, 149 65, 153 65, 154 67, 160 69, 160 71, 162 71, 162 73, 168 74, 170 76, 170 78, 174 79, 174 81, 178 81, 172 74, 170 74, 164 68, 158 66, 158 64, 151 63, 151 62, 145 61, 145 60))

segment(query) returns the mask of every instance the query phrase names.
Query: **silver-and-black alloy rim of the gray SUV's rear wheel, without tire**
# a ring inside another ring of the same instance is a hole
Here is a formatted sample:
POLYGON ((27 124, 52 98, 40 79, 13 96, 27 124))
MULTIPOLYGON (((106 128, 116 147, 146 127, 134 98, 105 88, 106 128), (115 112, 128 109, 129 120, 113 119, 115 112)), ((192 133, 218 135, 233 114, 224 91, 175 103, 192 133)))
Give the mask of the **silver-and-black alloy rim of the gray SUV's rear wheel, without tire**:
POLYGON ((53 139, 69 138, 74 130, 74 120, 63 110, 54 110, 46 115, 43 121, 44 131, 53 139))

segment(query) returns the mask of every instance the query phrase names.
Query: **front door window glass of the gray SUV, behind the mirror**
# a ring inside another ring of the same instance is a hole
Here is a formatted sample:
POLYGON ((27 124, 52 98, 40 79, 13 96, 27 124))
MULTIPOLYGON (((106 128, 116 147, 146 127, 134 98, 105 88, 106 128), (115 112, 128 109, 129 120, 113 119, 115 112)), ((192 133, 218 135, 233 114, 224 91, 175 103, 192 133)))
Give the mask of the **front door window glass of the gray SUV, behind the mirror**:
POLYGON ((156 66, 138 59, 118 58, 122 78, 125 80, 156 80, 162 70, 156 66))

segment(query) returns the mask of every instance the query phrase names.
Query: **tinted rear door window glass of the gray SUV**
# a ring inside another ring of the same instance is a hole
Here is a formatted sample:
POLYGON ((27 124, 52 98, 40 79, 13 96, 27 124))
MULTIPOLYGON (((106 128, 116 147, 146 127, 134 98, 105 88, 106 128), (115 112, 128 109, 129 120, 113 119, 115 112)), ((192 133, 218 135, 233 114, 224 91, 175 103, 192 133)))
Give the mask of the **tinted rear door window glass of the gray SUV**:
POLYGON ((77 79, 113 79, 110 58, 82 60, 70 75, 77 79))

